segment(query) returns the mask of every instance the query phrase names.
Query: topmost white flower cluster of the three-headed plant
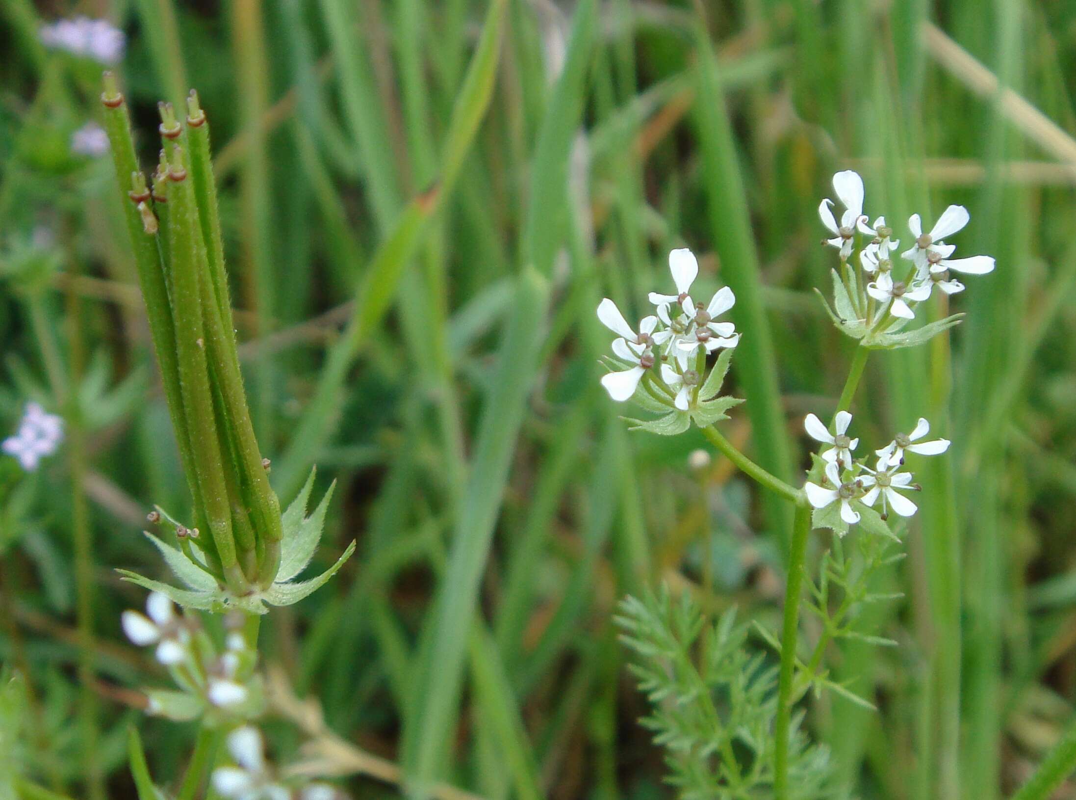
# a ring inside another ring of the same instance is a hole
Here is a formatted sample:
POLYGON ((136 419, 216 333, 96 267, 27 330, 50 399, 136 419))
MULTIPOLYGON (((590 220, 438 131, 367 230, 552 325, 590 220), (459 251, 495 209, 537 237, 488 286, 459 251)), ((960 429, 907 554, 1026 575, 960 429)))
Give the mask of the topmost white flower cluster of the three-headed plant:
POLYGON ((838 225, 832 211, 833 200, 825 198, 819 205, 818 213, 822 217, 822 224, 833 234, 825 243, 837 248, 841 264, 847 265, 856 231, 869 237, 869 241, 860 251, 859 263, 865 278, 859 285, 865 283, 864 291, 878 304, 877 309, 867 307, 865 298, 859 296, 855 284, 847 286, 858 315, 867 325, 883 323, 891 317, 914 319, 916 304, 928 299, 935 286, 946 294, 962 292, 964 284, 953 278, 950 271, 985 275, 993 270, 994 259, 987 255, 951 257, 957 245, 946 243, 945 239, 967 225, 971 217, 963 206, 949 206, 928 233, 923 233, 919 214, 912 214, 908 219, 912 244, 901 253, 901 258, 911 264, 902 270, 892 261, 892 254, 901 242, 892 238, 893 229, 887 225, 886 217, 879 216, 873 224, 867 224, 868 217, 863 213, 863 179, 859 173, 850 169, 837 172, 833 177, 833 188, 845 211, 838 225))

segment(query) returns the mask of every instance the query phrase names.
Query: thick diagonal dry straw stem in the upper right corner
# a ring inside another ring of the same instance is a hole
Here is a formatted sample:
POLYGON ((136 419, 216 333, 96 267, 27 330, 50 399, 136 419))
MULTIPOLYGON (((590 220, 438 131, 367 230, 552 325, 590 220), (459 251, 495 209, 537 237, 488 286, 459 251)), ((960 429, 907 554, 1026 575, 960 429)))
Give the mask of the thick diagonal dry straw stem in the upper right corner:
POLYGON ((1020 131, 1058 160, 1076 164, 1076 140, 1042 111, 1009 88, 1002 88, 994 73, 979 64, 937 26, 920 28, 926 52, 953 78, 975 94, 995 98, 997 108, 1020 131))

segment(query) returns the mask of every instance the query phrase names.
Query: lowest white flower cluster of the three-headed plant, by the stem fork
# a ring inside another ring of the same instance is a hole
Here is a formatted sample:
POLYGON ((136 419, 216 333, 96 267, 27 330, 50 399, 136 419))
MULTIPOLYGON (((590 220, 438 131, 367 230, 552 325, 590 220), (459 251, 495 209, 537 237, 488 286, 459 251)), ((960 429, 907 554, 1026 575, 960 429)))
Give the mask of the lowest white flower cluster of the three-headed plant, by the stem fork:
POLYGON ((848 436, 851 422, 852 415, 838 411, 834 420, 834 433, 830 433, 815 415, 809 413, 804 420, 804 427, 811 438, 831 446, 821 453, 821 459, 825 462, 822 483, 807 481, 804 485, 808 502, 818 509, 839 503, 840 519, 850 525, 861 518, 852 506, 856 501, 872 508, 881 501, 883 520, 889 517, 890 508, 902 517, 910 517, 916 513, 917 506, 902 492, 919 491, 920 487, 911 482, 911 473, 901 472, 905 452, 937 455, 949 449, 949 440, 923 441, 922 438, 930 433, 931 426, 920 417, 911 433, 898 433, 886 447, 875 450, 878 460, 874 467, 869 467, 853 459, 852 451, 860 440, 848 436))

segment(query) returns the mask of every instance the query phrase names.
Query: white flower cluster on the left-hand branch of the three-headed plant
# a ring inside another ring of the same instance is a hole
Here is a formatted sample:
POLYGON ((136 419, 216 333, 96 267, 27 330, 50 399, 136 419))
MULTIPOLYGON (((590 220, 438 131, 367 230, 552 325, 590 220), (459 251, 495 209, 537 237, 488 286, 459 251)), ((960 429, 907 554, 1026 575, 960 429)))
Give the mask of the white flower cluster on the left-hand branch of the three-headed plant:
POLYGON ((598 319, 620 337, 612 342, 612 351, 624 367, 603 377, 601 384, 610 397, 624 402, 635 394, 642 377, 653 376, 653 367, 659 366, 660 375, 653 379, 675 394, 675 405, 683 411, 703 382, 706 354, 734 348, 739 341, 733 323, 718 321, 735 305, 736 296, 724 286, 709 303, 696 303, 690 292, 698 262, 686 248, 669 253, 669 271, 677 293, 650 293, 656 314, 645 317, 638 333, 608 297, 598 305, 598 319))

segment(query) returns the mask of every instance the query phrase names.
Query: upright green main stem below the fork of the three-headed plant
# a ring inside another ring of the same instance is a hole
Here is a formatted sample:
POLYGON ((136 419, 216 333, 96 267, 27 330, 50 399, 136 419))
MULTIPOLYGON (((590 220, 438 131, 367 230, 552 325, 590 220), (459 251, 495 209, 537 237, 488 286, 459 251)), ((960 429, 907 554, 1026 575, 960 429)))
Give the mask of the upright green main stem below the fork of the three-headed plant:
POLYGON ((784 622, 781 631, 781 676, 777 689, 777 724, 774 731, 774 798, 789 797, 789 738, 792 733, 792 679, 796 664, 796 638, 799 632, 799 592, 804 580, 807 536, 810 533, 810 507, 796 506, 789 551, 789 578, 784 588, 784 622))

